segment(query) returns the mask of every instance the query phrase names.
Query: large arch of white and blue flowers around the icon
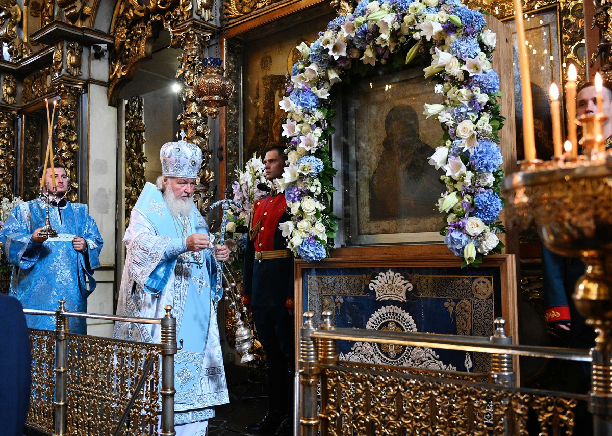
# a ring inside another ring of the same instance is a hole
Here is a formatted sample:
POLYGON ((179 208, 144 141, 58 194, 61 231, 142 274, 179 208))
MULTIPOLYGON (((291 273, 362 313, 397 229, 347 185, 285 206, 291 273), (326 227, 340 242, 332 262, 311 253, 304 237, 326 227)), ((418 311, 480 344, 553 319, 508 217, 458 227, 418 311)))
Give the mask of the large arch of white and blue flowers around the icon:
MULTIPOLYGON (((291 221, 280 225, 294 254, 308 261, 329 254, 337 230, 330 209, 336 170, 329 159, 334 133, 330 89, 347 73, 364 76, 377 62, 399 67, 420 59, 425 77, 436 81, 442 104, 426 104, 427 118, 442 124, 441 145, 430 164, 446 172, 446 192, 438 209, 446 213, 441 230, 450 250, 464 265, 501 252, 498 222, 503 177, 498 146, 504 117, 496 97, 498 73, 491 68, 496 35, 485 30, 483 11, 459 0, 362 0, 352 14, 337 17, 319 39, 297 49, 280 107, 287 113, 283 137, 289 166, 278 189, 285 192, 291 221)), ((433 200, 433 199, 432 199, 433 200)))

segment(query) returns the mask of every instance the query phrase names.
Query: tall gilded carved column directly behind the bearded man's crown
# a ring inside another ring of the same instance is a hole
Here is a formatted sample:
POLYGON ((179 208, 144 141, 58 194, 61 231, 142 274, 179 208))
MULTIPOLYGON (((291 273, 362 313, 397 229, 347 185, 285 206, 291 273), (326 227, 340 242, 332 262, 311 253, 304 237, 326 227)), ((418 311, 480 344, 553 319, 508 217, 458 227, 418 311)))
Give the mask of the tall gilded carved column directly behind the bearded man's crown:
POLYGON ((209 164, 212 157, 212 151, 208 145, 211 129, 207 126, 207 116, 201 112, 194 87, 201 73, 200 61, 210 40, 211 31, 196 26, 187 26, 187 28, 173 30, 173 36, 180 40, 183 50, 176 73, 176 77, 183 84, 179 94, 183 111, 177 121, 179 121, 181 130, 185 132, 185 140, 199 146, 204 156, 198 173, 200 181, 195 187, 194 194, 198 209, 204 213, 204 209, 211 205, 214 197, 211 184, 215 174, 209 164))

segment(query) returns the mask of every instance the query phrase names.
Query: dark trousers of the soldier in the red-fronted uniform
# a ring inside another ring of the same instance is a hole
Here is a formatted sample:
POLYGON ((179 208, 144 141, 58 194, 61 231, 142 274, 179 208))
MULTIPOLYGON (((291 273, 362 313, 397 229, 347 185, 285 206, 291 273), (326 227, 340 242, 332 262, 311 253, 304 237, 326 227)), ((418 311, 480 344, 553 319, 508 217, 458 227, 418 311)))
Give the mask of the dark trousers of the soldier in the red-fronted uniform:
POLYGON ((259 342, 266 354, 269 410, 292 418, 294 317, 289 315, 285 307, 253 307, 253 319, 259 342))

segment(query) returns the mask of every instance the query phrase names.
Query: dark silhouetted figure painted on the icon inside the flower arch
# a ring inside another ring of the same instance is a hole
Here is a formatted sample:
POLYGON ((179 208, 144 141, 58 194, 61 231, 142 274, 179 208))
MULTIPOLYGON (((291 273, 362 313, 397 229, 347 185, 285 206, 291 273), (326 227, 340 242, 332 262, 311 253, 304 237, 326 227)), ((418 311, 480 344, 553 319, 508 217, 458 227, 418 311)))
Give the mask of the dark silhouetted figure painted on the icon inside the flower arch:
POLYGON ((419 119, 405 104, 384 121, 383 154, 370 178, 370 220, 435 216, 442 171, 428 164, 434 149, 419 138, 419 119))

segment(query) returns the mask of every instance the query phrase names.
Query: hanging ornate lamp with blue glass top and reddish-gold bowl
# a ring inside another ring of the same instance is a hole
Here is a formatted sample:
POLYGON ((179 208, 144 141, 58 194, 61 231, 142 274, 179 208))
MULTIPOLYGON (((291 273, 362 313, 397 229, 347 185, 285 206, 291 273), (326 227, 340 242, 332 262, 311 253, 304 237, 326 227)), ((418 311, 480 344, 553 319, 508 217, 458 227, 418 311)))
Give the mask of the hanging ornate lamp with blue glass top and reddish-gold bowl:
POLYGON ((203 106, 203 113, 212 119, 219 115, 219 108, 226 106, 234 94, 234 83, 225 77, 223 59, 206 58, 201 61, 201 75, 196 81, 195 92, 203 106))

